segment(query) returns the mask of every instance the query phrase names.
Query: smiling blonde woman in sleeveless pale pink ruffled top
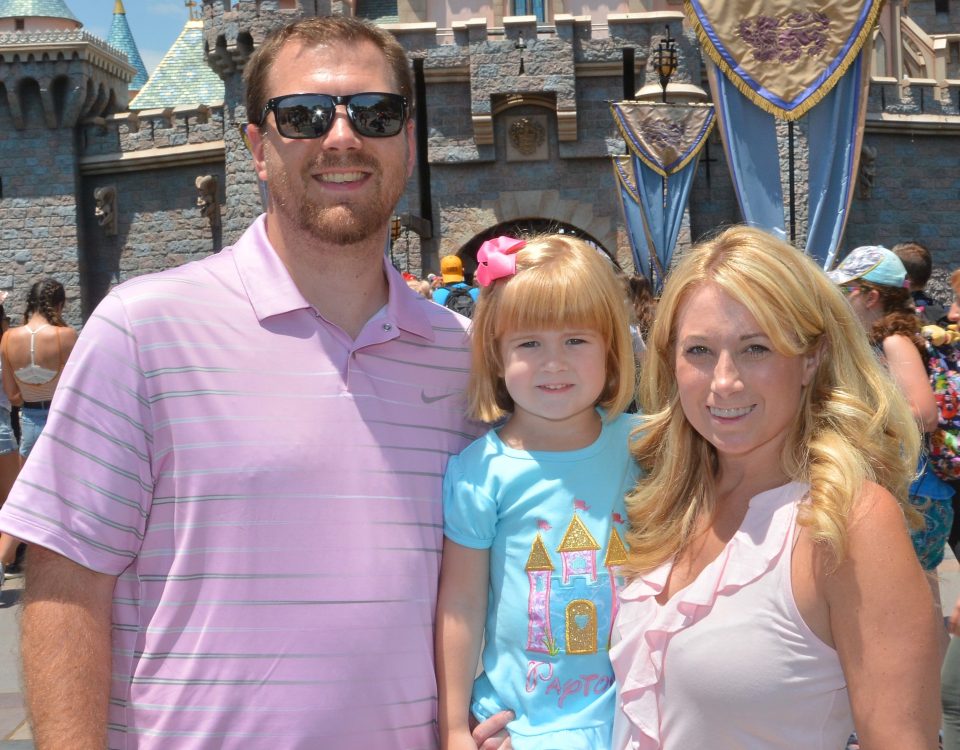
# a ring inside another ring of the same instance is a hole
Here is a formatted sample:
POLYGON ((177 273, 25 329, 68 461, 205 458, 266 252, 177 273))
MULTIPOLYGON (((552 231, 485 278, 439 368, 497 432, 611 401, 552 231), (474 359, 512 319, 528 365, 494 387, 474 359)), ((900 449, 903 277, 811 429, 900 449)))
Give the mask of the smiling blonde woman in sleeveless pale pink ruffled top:
POLYGON ((936 747, 920 433, 840 291, 728 229, 667 280, 640 395, 615 747, 936 747))

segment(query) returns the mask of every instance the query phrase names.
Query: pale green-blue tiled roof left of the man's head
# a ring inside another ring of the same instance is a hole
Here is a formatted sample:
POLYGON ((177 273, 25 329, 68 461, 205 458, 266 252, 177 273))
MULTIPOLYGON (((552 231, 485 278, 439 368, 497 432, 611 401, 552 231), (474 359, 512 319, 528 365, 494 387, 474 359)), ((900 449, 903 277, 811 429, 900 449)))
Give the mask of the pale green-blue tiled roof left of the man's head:
POLYGON ((222 103, 223 81, 203 57, 203 21, 190 20, 130 102, 130 109, 222 103))

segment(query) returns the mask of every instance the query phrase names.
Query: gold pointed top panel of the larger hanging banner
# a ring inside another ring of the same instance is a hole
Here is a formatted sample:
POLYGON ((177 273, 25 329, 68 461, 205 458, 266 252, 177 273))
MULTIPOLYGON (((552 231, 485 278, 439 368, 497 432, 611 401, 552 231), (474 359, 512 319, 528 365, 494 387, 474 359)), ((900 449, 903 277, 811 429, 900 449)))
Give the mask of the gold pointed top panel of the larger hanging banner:
POLYGON ((753 104, 796 120, 870 38, 883 0, 684 0, 710 59, 753 104))

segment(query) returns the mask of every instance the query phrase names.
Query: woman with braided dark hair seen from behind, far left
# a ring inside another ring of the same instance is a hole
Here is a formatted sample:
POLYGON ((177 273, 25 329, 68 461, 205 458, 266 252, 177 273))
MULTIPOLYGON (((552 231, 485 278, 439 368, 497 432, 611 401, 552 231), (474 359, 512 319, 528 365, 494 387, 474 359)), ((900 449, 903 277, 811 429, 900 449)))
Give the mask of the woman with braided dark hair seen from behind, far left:
MULTIPOLYGON (((0 340, 3 390, 20 407, 20 456, 26 460, 47 423, 50 399, 63 365, 77 342, 77 332, 63 320, 63 284, 44 279, 30 287, 24 325, 0 340)), ((14 561, 18 540, 0 536, 0 564, 14 561)))

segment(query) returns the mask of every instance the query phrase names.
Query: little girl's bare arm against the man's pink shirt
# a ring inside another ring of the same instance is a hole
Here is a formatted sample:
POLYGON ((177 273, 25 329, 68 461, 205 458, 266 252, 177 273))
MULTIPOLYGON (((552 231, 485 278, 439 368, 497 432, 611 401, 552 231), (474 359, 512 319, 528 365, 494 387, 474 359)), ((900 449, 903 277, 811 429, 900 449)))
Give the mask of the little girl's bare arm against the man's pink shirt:
POLYGON ((476 750, 470 733, 470 695, 480 661, 490 586, 490 551, 443 540, 437 598, 437 689, 440 745, 476 750))

